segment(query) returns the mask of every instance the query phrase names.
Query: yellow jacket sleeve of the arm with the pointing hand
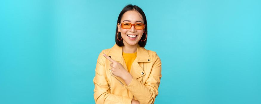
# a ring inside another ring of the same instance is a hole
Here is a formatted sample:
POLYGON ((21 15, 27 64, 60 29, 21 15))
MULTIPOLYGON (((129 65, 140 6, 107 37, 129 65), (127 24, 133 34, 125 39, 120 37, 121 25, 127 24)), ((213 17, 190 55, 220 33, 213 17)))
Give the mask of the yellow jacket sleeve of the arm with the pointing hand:
POLYGON ((140 104, 153 104, 156 96, 158 95, 158 88, 160 85, 161 78, 161 60, 157 56, 157 53, 154 53, 152 56, 154 62, 149 78, 145 82, 145 85, 140 83, 137 79, 132 78, 129 85, 125 85, 125 88, 128 89, 140 102, 140 104))

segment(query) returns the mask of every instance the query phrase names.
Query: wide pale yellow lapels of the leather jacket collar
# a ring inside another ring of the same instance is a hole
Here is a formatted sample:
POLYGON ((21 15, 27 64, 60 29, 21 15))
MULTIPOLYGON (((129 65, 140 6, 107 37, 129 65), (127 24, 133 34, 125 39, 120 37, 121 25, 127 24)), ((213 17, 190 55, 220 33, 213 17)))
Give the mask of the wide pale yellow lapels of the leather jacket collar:
MULTIPOLYGON (((122 51, 123 51, 123 47, 119 47, 116 43, 114 44, 114 46, 111 48, 111 52, 109 53, 109 55, 112 56, 112 59, 114 59, 117 62, 121 62, 122 60, 122 51)), ((147 50, 144 47, 140 47, 140 45, 138 45, 137 48, 137 62, 151 62, 151 59, 149 57, 149 53, 147 52, 147 50)))

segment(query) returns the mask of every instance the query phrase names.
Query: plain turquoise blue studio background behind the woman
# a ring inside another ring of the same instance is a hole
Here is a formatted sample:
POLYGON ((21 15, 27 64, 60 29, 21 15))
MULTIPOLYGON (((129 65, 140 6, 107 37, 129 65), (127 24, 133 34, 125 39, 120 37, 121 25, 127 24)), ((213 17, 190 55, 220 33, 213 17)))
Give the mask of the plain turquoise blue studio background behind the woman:
POLYGON ((155 103, 261 103, 259 0, 1 0, 0 103, 95 103, 98 54, 127 4, 162 61, 155 103))

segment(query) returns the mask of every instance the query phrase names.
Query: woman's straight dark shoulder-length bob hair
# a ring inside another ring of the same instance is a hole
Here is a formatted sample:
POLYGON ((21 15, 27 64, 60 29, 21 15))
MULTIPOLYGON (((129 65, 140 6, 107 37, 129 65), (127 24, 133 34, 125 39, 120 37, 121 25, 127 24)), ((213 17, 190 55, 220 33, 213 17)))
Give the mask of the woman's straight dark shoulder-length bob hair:
MULTIPOLYGON (((148 25, 147 25, 147 20, 146 20, 146 16, 144 14, 144 12, 140 9, 140 7, 136 6, 136 5, 132 5, 132 4, 129 4, 127 6, 125 6, 122 10, 121 10, 121 13, 119 14, 119 17, 118 17, 118 20, 117 20, 117 25, 116 25, 116 34, 115 34, 115 42, 118 46, 124 46, 123 44, 123 40, 119 41, 117 39, 117 33, 118 33, 118 23, 121 23, 121 18, 123 16, 123 14, 127 11, 130 11, 130 10, 136 10, 137 12, 139 12, 142 17, 143 17, 143 21, 144 21, 144 24, 145 24, 145 32, 148 34, 147 32, 147 29, 148 29, 148 25)), ((119 32, 118 33, 118 38, 121 39, 121 33, 119 32)), ((145 38, 148 39, 148 35, 146 37, 146 34, 143 33, 142 34, 142 37, 141 37, 141 40, 145 40, 145 38)), ((140 47, 145 47, 146 43, 147 43, 147 39, 145 41, 139 41, 138 44, 140 45, 140 47)))

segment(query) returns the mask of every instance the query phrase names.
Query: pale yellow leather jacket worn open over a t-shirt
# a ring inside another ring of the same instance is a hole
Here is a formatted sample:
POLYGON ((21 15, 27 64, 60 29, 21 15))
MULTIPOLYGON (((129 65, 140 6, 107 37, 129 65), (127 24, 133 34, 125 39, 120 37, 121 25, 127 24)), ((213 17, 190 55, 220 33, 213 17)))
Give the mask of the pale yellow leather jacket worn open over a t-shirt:
POLYGON ((93 78, 95 103, 130 104, 132 99, 138 100, 141 104, 154 103, 161 78, 161 61, 156 52, 138 45, 137 57, 130 70, 133 79, 129 85, 126 85, 120 77, 111 75, 109 72, 111 62, 103 56, 104 53, 120 62, 127 70, 122 47, 115 44, 112 48, 101 51, 93 78))

